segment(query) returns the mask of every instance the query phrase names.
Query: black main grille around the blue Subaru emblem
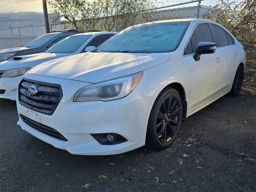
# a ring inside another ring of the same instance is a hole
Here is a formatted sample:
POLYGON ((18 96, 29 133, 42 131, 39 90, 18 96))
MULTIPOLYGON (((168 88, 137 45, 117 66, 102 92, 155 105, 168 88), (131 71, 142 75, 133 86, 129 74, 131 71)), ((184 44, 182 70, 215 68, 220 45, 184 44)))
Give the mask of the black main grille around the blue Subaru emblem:
POLYGON ((46 115, 53 114, 62 98, 61 86, 58 84, 22 79, 18 89, 19 102, 22 106, 46 115), (33 85, 38 89, 35 95, 28 91, 33 85))

